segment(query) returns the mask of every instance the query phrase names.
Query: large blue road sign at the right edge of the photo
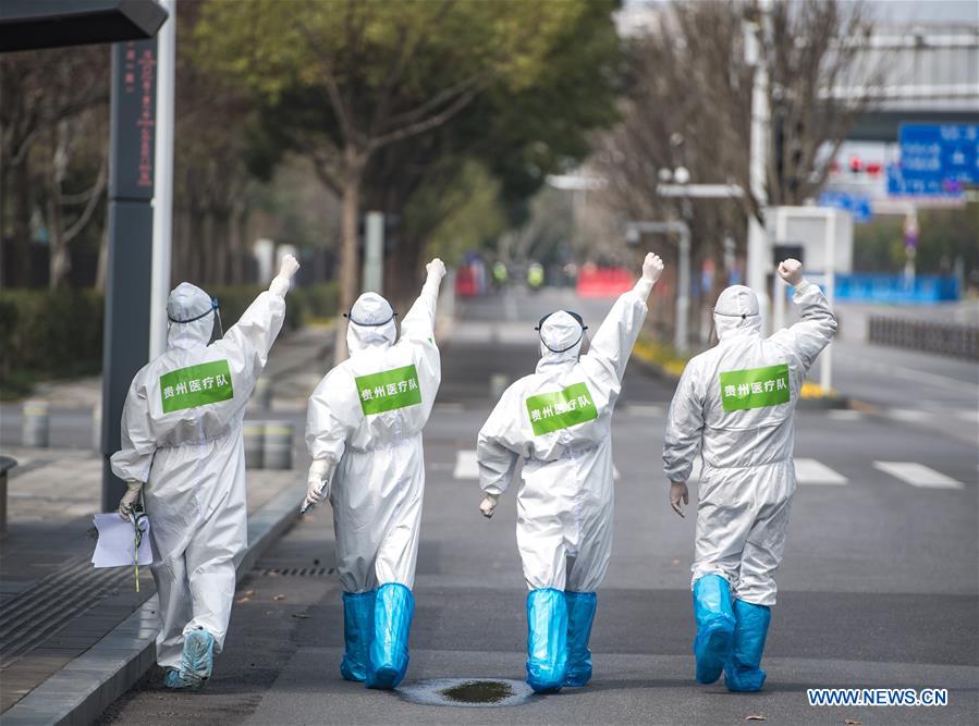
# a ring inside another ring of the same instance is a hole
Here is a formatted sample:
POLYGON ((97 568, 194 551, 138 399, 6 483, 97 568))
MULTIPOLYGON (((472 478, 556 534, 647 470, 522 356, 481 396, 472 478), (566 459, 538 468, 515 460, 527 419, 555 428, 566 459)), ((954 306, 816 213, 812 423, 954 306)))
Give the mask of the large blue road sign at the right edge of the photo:
POLYGON ((901 163, 889 170, 889 194, 956 196, 979 184, 979 124, 901 124, 898 139, 901 163))

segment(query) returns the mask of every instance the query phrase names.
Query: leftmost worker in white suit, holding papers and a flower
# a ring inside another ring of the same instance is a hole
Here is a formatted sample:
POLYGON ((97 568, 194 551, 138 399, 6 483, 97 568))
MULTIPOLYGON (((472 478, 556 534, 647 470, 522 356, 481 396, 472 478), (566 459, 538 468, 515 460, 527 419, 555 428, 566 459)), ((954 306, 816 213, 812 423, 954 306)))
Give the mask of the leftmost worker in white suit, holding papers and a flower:
POLYGON ((112 471, 129 484, 127 517, 142 492, 155 552, 162 627, 157 662, 170 688, 198 687, 228 632, 234 556, 247 544, 245 404, 285 318, 299 268, 279 275, 223 337, 218 302, 182 282, 167 303, 167 350, 133 379, 122 411, 122 448, 112 471))

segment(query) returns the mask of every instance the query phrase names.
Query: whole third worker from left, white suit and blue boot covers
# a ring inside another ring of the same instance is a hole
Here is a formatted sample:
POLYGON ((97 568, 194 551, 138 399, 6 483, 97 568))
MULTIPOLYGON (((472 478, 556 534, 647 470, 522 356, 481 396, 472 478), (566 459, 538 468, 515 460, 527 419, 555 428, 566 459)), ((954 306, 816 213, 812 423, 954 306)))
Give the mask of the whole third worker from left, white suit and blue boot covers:
POLYGON ((516 539, 530 590, 527 682, 537 692, 591 678, 595 591, 612 552, 612 410, 662 271, 660 258, 647 255, 643 278, 619 297, 580 359, 582 319, 564 310, 542 318, 537 371, 503 392, 479 432, 485 516, 524 459, 516 539))

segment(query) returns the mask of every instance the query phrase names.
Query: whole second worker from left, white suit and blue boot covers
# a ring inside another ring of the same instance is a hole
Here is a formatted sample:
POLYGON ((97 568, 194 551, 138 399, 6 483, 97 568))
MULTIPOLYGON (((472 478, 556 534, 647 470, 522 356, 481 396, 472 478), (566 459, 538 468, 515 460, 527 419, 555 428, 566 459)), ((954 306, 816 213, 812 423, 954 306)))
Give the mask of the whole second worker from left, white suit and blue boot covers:
POLYGON ((436 304, 445 274, 428 263, 421 295, 401 322, 376 293, 347 316, 351 357, 309 398, 308 503, 329 497, 343 587, 347 680, 390 689, 408 666, 415 561, 425 492, 421 429, 442 380, 436 304))

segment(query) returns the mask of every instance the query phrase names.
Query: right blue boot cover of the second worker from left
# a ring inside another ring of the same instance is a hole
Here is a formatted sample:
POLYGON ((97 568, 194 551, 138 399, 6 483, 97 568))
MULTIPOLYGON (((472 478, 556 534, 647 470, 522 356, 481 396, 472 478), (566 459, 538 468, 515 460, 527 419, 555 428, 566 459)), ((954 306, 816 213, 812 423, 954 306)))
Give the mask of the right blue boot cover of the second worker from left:
POLYGON ((378 588, 374 606, 374 639, 367 688, 396 688, 408 669, 408 633, 415 614, 415 598, 400 582, 378 588))

